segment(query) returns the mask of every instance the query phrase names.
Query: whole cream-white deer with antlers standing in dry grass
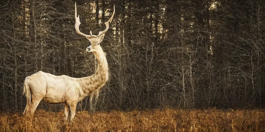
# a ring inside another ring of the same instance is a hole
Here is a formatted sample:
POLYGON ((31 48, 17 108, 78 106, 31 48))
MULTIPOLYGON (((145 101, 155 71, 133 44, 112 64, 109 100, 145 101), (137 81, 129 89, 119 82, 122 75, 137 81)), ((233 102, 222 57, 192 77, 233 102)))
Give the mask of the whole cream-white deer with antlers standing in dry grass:
POLYGON ((65 121, 68 119, 69 109, 71 110, 70 120, 72 121, 78 101, 81 101, 89 95, 90 101, 92 101, 94 94, 96 94, 96 97, 98 96, 99 89, 108 81, 108 62, 99 43, 103 40, 114 13, 115 7, 112 17, 109 21, 105 22, 106 29, 99 32, 99 35, 92 35, 91 31, 90 35, 86 35, 79 31, 79 25, 81 23, 75 11, 76 31, 78 34, 86 36, 89 39, 91 45, 86 48, 86 51, 93 52, 98 59, 96 72, 89 77, 83 78, 73 78, 65 75, 55 76, 42 71, 26 77, 23 94, 27 97, 27 106, 23 114, 30 112, 33 115, 41 100, 52 104, 65 103, 65 121))

